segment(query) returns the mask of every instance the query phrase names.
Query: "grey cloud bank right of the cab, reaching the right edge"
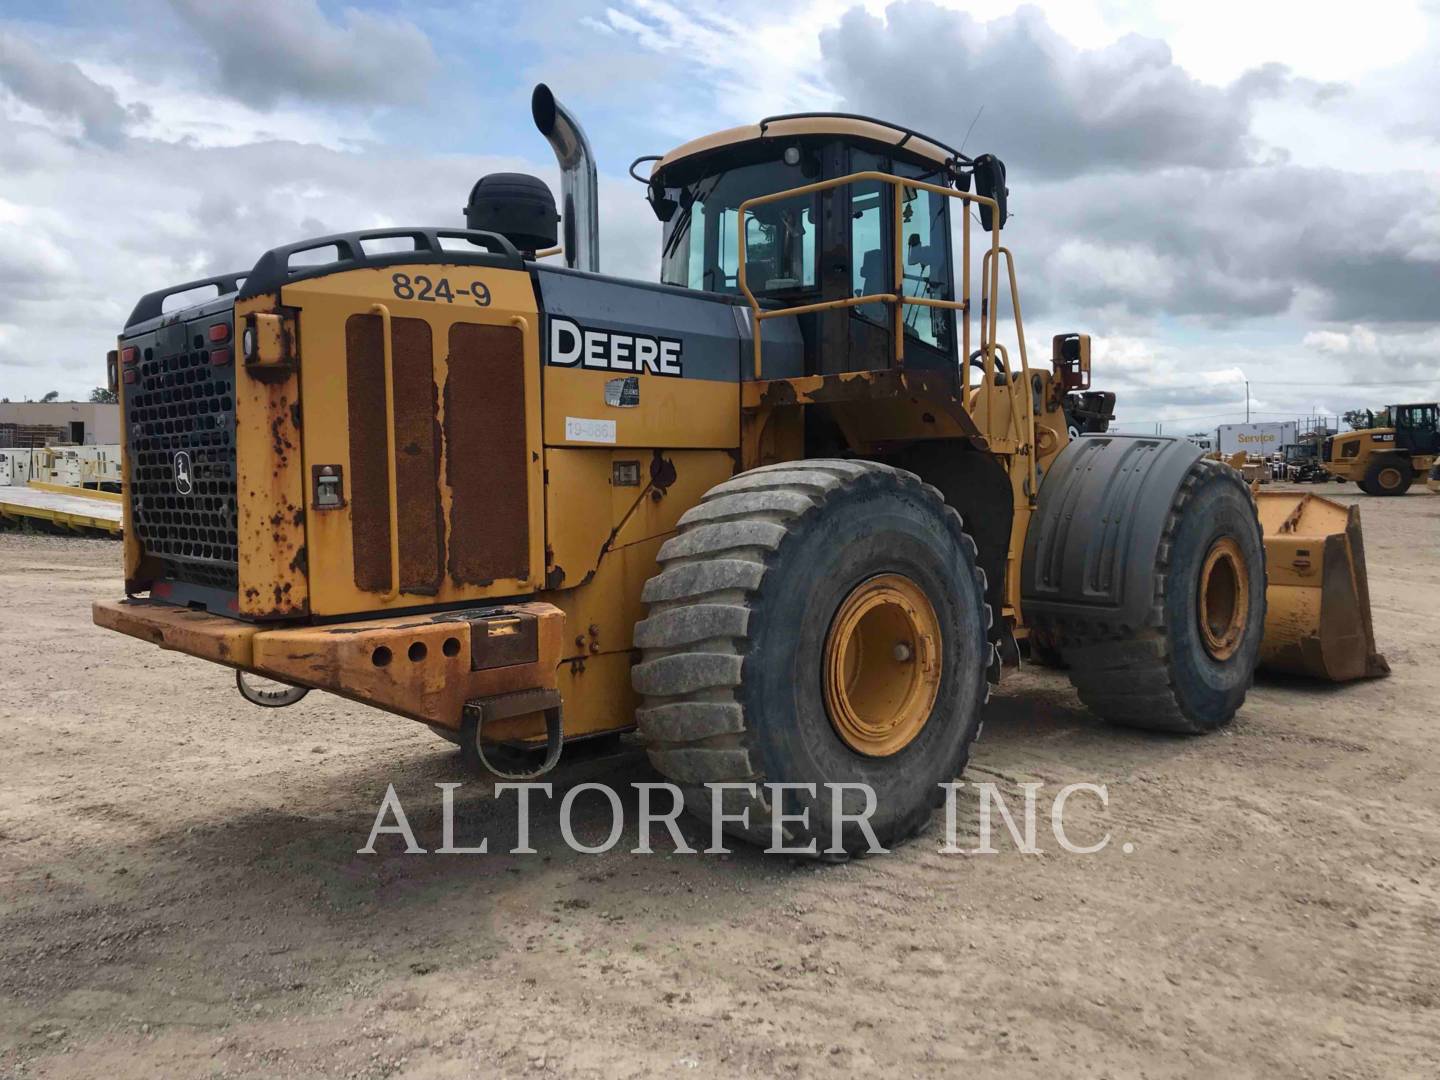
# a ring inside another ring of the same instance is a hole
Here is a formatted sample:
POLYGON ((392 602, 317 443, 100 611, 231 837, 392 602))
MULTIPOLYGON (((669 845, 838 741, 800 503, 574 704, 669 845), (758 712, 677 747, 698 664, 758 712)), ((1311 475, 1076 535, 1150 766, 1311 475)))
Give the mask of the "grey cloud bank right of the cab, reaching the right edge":
POLYGON ((1136 314, 1428 323, 1440 193, 1417 174, 1299 166, 1089 176, 1014 190, 1051 301, 1136 314), (1027 210, 1031 213, 1027 215, 1027 210))

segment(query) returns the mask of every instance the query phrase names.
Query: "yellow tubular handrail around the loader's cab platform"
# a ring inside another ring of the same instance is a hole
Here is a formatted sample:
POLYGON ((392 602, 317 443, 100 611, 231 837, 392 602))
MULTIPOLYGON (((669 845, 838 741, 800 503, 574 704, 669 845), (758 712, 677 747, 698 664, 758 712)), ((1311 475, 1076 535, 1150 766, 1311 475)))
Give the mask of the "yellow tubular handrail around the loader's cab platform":
MULTIPOLYGON (((991 207, 992 213, 998 213, 999 207, 994 199, 982 194, 971 194, 969 192, 956 192, 953 187, 942 187, 940 184, 932 184, 924 180, 910 180, 903 176, 894 176, 891 173, 878 173, 874 170, 867 170, 863 173, 851 173, 848 176, 841 176, 834 180, 819 180, 812 184, 801 184, 799 187, 791 187, 783 192, 773 192, 770 194, 759 194, 752 199, 746 199, 739 206, 739 230, 736 243, 739 246, 739 261, 737 261, 737 284, 740 292, 744 295, 746 302, 750 305, 752 325, 755 334, 755 379, 762 377, 762 341, 760 341, 760 324, 768 318, 780 318, 788 315, 804 315, 811 311, 829 311, 834 308, 857 307, 861 304, 893 304, 894 305, 894 346, 893 346, 893 361, 897 367, 904 366, 904 307, 907 304, 914 304, 920 307, 945 308, 949 311, 960 311, 963 318, 962 324, 962 340, 960 340, 960 386, 965 393, 969 395, 971 382, 971 217, 969 213, 963 213, 960 236, 962 236, 962 253, 960 253, 960 298, 959 300, 933 300, 930 297, 907 297, 904 295, 904 245, 900 238, 903 235, 903 190, 912 189, 917 192, 933 192, 936 194, 943 194, 948 199, 959 199, 962 203, 978 203, 981 206, 991 207), (847 297, 844 300, 827 300, 814 304, 799 304, 795 307, 785 308, 760 308, 759 300, 756 300, 755 292, 750 291, 750 285, 746 281, 746 215, 756 206, 765 206, 766 203, 776 203, 785 199, 795 199, 804 194, 814 194, 816 192, 828 192, 834 187, 841 187, 844 184, 852 184, 863 180, 874 180, 877 183, 890 184, 894 189, 894 291, 893 292, 876 292, 867 297, 847 297)), ((1020 363, 1021 372, 1024 374, 1024 393, 1030 395, 1030 361, 1025 354, 1025 337, 1021 330, 1021 315, 1020 315, 1020 294, 1015 288, 1015 262, 1014 256, 1007 248, 999 243, 999 230, 991 230, 989 251, 985 252, 985 258, 981 262, 981 351, 985 357, 985 366, 988 373, 992 376, 995 372, 995 334, 996 334, 996 308, 998 305, 992 302, 992 298, 999 292, 999 252, 1005 252, 1007 265, 1009 268, 1009 284, 1011 284, 1011 302, 1015 310, 1015 328, 1020 336, 1020 363)), ((1007 372, 1009 369, 1009 361, 1005 363, 1007 372)), ((1011 413, 1015 413, 1014 402, 1014 379, 1009 379, 1009 393, 1011 393, 1011 413)), ((995 392, 994 379, 985 379, 985 405, 986 415, 989 415, 989 406, 995 392)), ((969 405, 966 399, 966 406, 969 405)), ((1030 415, 1030 441, 1034 445, 1034 410, 1027 409, 1030 415)), ((1018 416, 1014 418, 1018 420, 1018 416)), ((1020 425, 1015 423, 1018 432, 1020 425)))

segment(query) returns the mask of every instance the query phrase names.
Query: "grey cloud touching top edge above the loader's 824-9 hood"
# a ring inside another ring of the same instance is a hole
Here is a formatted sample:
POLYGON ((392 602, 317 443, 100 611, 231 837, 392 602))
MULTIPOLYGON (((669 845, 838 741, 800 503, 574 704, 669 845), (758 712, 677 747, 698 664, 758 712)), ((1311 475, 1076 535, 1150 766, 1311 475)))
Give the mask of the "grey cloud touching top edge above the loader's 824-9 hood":
POLYGON ((170 0, 219 60, 220 85, 248 105, 282 98, 366 105, 412 101, 436 69, 410 22, 356 9, 333 23, 315 0, 170 0))

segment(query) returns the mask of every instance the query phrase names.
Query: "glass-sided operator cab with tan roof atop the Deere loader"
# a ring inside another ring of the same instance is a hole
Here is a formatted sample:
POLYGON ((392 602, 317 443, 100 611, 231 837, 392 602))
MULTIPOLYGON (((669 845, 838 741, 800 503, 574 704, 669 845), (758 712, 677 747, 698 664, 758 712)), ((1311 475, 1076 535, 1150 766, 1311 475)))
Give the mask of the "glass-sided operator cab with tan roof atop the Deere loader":
MULTIPOLYGON (((730 295, 743 294, 737 240, 746 200, 867 171, 968 192, 973 170, 969 158, 942 143, 844 114, 775 117, 687 143, 654 160, 647 183, 651 207, 664 223, 661 281, 730 295)), ((988 177, 978 186, 989 194, 988 177)), ((746 285, 762 307, 890 294, 894 197, 893 184, 857 180, 749 207, 746 285)), ((904 189, 900 197, 904 294, 953 301, 950 213, 959 200, 920 189, 904 189)), ((888 302, 798 315, 806 373, 890 367, 894 317, 888 302)), ((903 321, 906 367, 955 370, 952 310, 907 304, 903 321)))

